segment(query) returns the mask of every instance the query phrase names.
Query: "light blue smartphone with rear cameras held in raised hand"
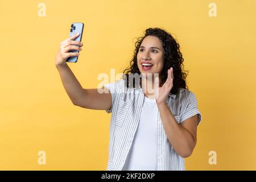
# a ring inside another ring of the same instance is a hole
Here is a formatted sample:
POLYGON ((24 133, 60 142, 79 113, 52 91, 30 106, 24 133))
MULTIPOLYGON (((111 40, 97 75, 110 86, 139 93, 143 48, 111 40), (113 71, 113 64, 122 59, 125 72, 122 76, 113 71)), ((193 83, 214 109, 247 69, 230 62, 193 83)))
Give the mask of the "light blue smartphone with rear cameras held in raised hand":
MULTIPOLYGON (((84 31, 84 23, 72 23, 71 24, 71 28, 69 30, 69 37, 72 35, 77 34, 77 32, 80 33, 80 35, 74 39, 75 41, 80 41, 82 40, 82 32, 84 31)), ((74 45, 77 46, 77 45, 74 45)), ((71 50, 69 52, 79 52, 77 50, 71 50)), ((78 60, 78 56, 73 56, 73 57, 68 57, 68 59, 66 60, 66 62, 69 63, 76 63, 78 60)))

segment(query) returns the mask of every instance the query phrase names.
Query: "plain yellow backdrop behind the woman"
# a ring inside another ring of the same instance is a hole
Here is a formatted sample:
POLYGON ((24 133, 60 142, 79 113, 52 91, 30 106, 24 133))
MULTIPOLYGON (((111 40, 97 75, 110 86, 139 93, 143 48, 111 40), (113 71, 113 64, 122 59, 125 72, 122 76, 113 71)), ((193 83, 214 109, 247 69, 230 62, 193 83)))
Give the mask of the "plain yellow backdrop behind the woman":
POLYGON ((0 1, 0 169, 106 169, 110 114, 72 105, 54 64, 70 24, 84 22, 85 46, 68 63, 83 88, 96 88, 110 68, 121 73, 146 28, 164 28, 180 43, 203 115, 185 168, 255 170, 255 17, 253 0, 0 1), (211 2, 217 17, 208 15, 211 2))

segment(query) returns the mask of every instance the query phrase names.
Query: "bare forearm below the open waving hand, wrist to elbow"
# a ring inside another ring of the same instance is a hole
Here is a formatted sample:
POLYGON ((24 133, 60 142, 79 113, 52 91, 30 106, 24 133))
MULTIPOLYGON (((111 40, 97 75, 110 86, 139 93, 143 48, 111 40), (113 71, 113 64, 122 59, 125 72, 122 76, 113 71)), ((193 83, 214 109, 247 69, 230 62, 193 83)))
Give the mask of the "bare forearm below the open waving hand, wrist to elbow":
POLYGON ((177 123, 167 104, 159 104, 158 109, 164 131, 174 150, 183 158, 190 156, 195 147, 192 134, 177 123))

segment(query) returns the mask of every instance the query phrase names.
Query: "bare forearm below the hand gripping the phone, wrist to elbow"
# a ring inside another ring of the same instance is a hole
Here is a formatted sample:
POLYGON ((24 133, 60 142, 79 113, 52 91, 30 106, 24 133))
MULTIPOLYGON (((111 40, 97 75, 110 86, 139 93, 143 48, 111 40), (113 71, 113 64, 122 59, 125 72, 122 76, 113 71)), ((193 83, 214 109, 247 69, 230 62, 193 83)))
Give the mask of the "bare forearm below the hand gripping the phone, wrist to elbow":
POLYGON ((79 81, 71 71, 71 69, 68 67, 67 64, 56 66, 57 70, 59 71, 61 82, 73 102, 73 104, 78 105, 79 100, 82 98, 82 94, 84 92, 84 89, 80 85, 79 81))

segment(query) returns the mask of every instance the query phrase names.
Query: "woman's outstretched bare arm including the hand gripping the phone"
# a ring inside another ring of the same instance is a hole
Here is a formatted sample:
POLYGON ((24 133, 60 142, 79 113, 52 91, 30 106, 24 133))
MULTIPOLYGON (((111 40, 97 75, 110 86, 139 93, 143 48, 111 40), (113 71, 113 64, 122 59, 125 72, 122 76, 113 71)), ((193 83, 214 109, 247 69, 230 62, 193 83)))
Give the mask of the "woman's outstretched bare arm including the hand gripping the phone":
POLYGON ((62 84, 72 103, 76 106, 85 107, 87 109, 110 109, 112 104, 112 96, 107 88, 104 93, 99 93, 98 89, 83 89, 71 69, 68 67, 66 60, 70 56, 78 56, 79 53, 69 52, 71 49, 81 51, 81 42, 73 41, 74 35, 64 40, 60 44, 59 51, 55 58, 55 65, 59 71, 62 84), (75 46, 77 45, 77 46, 75 46))

